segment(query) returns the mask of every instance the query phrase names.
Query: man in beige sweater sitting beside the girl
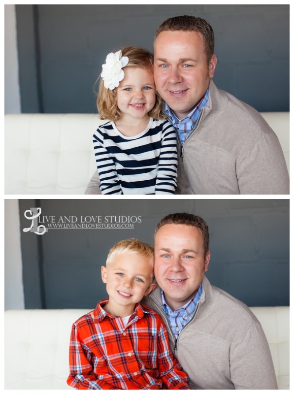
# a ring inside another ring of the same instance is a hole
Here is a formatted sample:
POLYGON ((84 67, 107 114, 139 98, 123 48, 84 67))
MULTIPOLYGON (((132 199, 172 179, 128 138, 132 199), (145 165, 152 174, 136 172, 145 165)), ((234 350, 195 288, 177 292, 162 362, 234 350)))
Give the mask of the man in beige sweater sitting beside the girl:
MULTIPOLYGON (((279 140, 252 107, 217 89, 214 33, 201 18, 169 18, 154 41, 154 78, 177 131, 176 194, 289 194, 279 140)), ((98 174, 86 194, 100 194, 98 174)))

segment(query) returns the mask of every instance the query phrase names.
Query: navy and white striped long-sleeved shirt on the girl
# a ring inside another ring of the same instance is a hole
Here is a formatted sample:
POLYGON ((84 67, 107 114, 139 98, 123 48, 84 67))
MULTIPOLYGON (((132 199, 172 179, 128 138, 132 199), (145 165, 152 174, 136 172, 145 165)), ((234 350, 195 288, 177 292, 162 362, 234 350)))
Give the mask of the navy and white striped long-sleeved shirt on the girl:
POLYGON ((150 118, 134 136, 107 121, 94 133, 93 143, 102 194, 174 194, 177 142, 167 119, 150 118))

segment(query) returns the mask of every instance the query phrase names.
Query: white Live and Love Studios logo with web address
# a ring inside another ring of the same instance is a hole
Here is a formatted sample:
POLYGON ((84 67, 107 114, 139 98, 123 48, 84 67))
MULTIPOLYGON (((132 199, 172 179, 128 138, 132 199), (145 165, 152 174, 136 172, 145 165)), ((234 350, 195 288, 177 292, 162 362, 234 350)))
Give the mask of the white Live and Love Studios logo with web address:
POLYGON ((38 235, 54 229, 134 229, 142 223, 136 215, 42 215, 41 208, 28 209, 24 215, 32 223, 23 230, 38 235))

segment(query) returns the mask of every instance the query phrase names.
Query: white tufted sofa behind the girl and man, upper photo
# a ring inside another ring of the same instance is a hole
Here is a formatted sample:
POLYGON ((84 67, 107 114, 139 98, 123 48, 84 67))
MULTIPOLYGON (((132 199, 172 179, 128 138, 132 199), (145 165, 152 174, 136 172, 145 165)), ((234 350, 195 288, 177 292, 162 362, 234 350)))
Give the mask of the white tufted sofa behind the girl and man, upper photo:
MULTIPOLYGON (((289 171, 289 112, 262 112, 289 171)), ((94 114, 5 115, 5 194, 84 194, 96 171, 94 114)))

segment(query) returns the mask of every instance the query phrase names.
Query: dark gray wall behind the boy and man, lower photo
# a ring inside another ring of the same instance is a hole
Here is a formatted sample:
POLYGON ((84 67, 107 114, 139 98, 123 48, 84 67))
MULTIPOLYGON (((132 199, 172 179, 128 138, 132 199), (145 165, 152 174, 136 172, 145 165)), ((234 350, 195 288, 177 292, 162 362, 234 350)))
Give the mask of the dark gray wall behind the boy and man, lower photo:
POLYGON ((100 266, 119 240, 150 244, 158 221, 172 212, 203 217, 210 230, 211 283, 249 306, 289 305, 289 199, 20 200, 42 215, 141 216, 133 229, 49 229, 22 232, 26 308, 94 308, 106 296, 100 266))

